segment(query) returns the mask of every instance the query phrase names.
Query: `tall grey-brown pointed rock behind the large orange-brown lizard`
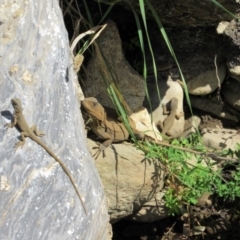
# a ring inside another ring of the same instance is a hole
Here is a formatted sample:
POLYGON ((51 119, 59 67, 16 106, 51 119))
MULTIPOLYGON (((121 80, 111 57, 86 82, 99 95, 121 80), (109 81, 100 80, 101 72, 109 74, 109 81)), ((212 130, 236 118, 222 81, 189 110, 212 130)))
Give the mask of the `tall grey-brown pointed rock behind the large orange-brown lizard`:
MULTIPOLYGON (((118 29, 113 21, 107 22, 97 43, 104 55, 106 75, 115 82, 131 111, 138 110, 145 97, 144 79, 126 61, 118 29)), ((84 81, 83 91, 86 97, 95 97, 103 106, 114 108, 100 71, 103 69, 101 64, 98 55, 94 53, 86 69, 88 78, 84 81)))

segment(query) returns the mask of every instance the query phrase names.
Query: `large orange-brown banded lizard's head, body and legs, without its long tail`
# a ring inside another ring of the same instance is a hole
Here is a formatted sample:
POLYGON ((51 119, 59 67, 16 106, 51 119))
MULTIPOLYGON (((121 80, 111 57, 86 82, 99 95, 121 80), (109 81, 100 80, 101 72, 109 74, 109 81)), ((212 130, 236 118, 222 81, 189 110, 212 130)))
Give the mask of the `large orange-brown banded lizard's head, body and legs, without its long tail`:
MULTIPOLYGON (((104 107, 94 97, 85 98, 82 106, 91 118, 91 130, 104 142, 99 145, 99 153, 102 152, 105 157, 104 150, 112 144, 112 142, 123 142, 129 138, 129 132, 125 125, 118 121, 117 118, 111 118, 107 115, 104 107)), ((129 124, 134 135, 138 139, 144 138, 144 133, 135 128, 133 120, 128 118, 129 124)), ((97 152, 98 153, 98 152, 97 152)), ((99 155, 99 154, 98 154, 99 155)), ((98 156, 97 156, 98 157, 98 156)))

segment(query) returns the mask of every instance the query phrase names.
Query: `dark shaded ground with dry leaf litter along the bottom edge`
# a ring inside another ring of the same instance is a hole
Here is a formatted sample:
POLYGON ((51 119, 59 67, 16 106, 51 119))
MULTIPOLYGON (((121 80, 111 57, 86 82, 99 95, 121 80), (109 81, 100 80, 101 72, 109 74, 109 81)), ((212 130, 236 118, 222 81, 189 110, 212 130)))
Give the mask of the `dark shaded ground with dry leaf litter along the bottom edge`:
POLYGON ((215 199, 211 207, 190 206, 188 213, 153 223, 122 220, 113 225, 113 240, 239 240, 239 199, 215 199))

